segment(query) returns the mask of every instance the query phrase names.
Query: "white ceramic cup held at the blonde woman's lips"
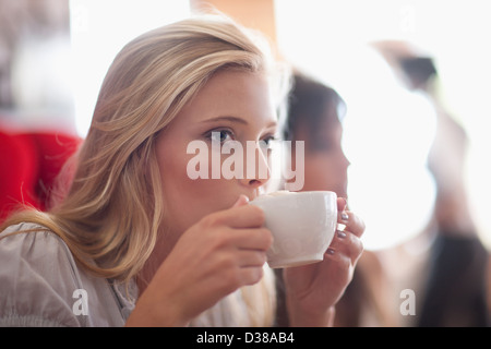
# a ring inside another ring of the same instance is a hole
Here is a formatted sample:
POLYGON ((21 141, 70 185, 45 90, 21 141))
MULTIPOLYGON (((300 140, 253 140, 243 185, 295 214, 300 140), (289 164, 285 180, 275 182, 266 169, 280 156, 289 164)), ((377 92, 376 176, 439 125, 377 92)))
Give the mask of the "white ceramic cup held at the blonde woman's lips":
POLYGON ((267 251, 272 268, 324 260, 337 227, 337 195, 328 191, 276 192, 251 201, 264 210, 264 226, 273 234, 267 251))

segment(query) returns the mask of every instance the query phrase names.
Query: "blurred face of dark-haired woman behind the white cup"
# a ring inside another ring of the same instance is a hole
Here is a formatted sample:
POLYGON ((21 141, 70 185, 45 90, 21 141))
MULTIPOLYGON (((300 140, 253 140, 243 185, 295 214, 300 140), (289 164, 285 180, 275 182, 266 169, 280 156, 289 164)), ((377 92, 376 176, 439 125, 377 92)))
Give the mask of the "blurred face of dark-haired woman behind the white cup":
POLYGON ((333 191, 347 197, 349 161, 342 147, 343 127, 337 117, 325 119, 330 122, 315 130, 315 142, 309 131, 299 132, 298 140, 306 141, 303 191, 333 191))

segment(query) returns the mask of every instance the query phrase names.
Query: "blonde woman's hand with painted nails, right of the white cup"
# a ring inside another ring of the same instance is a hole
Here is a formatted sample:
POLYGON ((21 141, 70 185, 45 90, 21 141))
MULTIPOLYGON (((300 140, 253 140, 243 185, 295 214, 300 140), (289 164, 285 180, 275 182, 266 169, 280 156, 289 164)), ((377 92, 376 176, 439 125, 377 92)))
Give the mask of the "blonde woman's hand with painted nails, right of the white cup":
POLYGON ((363 221, 346 212, 346 200, 338 198, 337 230, 324 261, 284 270, 287 306, 292 326, 327 326, 334 320, 334 305, 351 281, 355 266, 363 246, 360 237, 363 221))

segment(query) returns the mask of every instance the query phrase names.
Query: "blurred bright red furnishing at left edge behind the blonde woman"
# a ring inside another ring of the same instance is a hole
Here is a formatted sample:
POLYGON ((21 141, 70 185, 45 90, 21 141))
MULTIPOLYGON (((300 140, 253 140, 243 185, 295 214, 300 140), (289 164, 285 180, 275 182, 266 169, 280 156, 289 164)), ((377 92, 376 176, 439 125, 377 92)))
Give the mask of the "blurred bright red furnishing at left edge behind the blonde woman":
POLYGON ((0 130, 0 221, 23 205, 45 210, 55 179, 81 142, 60 132, 0 130))

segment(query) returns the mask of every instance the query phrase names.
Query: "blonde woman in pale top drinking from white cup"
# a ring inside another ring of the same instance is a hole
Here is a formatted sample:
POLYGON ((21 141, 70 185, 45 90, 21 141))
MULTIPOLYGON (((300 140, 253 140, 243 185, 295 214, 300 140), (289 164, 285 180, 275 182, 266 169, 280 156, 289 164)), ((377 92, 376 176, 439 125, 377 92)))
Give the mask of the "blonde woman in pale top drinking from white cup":
MULTIPOLYGON (((216 16, 129 43, 68 167, 67 192, 49 212, 2 227, 0 324, 274 325, 272 237, 248 205, 267 178, 187 172, 193 141, 274 139, 274 68, 246 29, 216 16)), ((340 216, 348 238, 334 240, 324 262, 285 270, 292 325, 333 322, 364 229, 352 213, 340 216)))

